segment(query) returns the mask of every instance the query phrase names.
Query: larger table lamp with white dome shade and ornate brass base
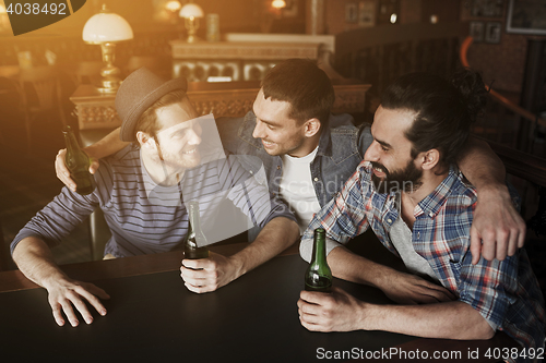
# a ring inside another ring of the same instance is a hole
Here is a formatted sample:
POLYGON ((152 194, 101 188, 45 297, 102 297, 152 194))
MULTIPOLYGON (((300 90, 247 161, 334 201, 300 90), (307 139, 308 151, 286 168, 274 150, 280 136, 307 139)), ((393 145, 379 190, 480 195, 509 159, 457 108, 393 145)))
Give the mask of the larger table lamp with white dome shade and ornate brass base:
POLYGON ((111 13, 106 5, 93 15, 83 27, 83 40, 87 44, 100 45, 103 62, 100 70, 103 80, 97 87, 103 93, 116 93, 121 84, 120 70, 114 65, 116 43, 133 38, 129 23, 118 14, 111 13))

